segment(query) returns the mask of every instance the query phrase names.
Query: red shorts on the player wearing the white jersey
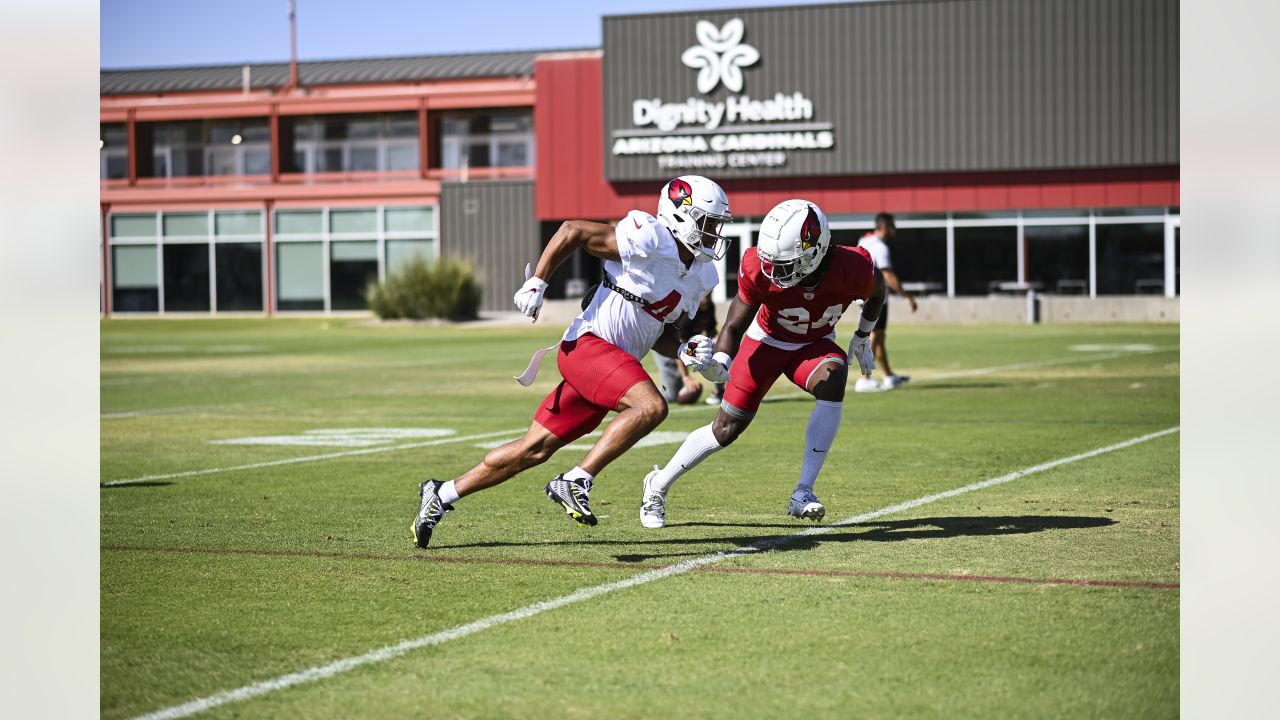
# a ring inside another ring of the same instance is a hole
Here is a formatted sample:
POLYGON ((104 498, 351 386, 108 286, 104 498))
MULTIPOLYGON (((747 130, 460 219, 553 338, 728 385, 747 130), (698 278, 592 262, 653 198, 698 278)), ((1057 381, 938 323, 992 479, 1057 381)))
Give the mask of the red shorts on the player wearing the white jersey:
POLYGON ((639 360, 588 333, 561 343, 561 384, 534 413, 534 420, 566 443, 599 427, 636 383, 649 380, 639 360))

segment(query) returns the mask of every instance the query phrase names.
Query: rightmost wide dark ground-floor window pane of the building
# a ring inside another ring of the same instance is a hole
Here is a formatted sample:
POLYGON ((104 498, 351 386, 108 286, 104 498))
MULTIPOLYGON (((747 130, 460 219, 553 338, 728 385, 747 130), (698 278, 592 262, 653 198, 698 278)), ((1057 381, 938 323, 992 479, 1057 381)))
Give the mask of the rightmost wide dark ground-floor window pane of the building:
POLYGON ((1165 225, 1097 227, 1098 295, 1165 292, 1165 225))

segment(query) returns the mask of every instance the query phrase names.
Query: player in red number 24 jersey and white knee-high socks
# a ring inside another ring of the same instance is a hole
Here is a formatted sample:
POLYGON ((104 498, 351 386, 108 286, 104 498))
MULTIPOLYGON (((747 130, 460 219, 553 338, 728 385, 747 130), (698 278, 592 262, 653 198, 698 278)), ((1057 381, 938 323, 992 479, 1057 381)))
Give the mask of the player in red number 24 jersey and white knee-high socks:
POLYGON ((863 373, 876 368, 868 334, 884 304, 884 278, 865 250, 831 247, 827 215, 817 205, 787 200, 760 223, 758 245, 742 255, 737 288, 716 355, 701 369, 712 382, 728 382, 719 414, 690 433, 666 468, 645 477, 640 523, 646 528, 666 524, 672 483, 737 439, 781 375, 817 398, 787 514, 820 520, 827 512, 813 486, 840 430, 849 356, 863 373), (846 354, 835 328, 858 300, 865 302, 846 354))

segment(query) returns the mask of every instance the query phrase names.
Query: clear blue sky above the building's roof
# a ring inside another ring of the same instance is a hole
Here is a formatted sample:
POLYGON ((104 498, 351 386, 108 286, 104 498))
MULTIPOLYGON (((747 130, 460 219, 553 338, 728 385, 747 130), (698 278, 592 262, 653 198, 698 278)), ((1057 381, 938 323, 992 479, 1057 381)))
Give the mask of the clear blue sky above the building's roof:
MULTIPOLYGON (((599 47, 600 15, 787 0, 297 0, 298 59, 599 47)), ((288 0, 102 0, 104 68, 289 58, 288 0)))

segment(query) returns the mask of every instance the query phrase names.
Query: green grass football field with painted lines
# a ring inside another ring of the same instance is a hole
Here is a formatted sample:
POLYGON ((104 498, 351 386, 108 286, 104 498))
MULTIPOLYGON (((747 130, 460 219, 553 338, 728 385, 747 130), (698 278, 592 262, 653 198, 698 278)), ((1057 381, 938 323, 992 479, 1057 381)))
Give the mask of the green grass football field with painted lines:
POLYGON ((1178 715, 1176 325, 892 327, 913 380, 850 387, 818 525, 782 380, 663 529, 641 480, 710 406, 595 528, 541 489, 584 438, 413 548, 419 480, 527 429, 562 329, 105 320, 102 716, 1178 715))

